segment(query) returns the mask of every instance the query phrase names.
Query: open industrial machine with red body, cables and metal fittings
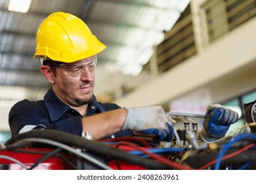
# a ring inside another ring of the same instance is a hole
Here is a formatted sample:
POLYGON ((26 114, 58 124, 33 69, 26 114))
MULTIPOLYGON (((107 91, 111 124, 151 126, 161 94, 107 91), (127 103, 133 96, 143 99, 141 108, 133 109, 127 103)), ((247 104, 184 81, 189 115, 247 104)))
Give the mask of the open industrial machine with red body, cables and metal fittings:
MULTIPOLYGON (((255 103, 245 106, 247 118, 240 127, 255 128, 255 103), (249 122, 248 122, 249 120, 249 122)), ((205 143, 193 118, 203 115, 167 112, 183 123, 171 142, 134 132, 131 137, 94 141, 91 134, 78 137, 49 129, 16 135, 0 146, 0 169, 256 169, 256 135, 236 133, 205 143), (190 127, 192 126, 192 127, 190 127)))

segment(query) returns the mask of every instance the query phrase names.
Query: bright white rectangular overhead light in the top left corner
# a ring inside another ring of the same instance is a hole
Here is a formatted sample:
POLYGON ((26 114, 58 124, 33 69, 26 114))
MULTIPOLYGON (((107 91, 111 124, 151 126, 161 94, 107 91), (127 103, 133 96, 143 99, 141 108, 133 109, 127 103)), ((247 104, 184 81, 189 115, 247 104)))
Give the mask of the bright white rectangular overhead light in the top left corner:
POLYGON ((31 0, 10 0, 8 10, 15 12, 28 12, 31 0))

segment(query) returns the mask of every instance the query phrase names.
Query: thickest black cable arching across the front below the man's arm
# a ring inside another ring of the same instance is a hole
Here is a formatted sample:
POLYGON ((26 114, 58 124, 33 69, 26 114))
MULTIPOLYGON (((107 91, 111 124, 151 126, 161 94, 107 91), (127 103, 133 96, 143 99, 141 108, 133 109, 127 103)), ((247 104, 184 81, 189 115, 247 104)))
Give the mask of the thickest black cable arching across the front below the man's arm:
POLYGON ((96 154, 99 154, 101 156, 109 156, 111 158, 121 159, 123 161, 127 161, 135 165, 140 165, 148 169, 171 169, 171 167, 169 167, 168 165, 165 165, 158 161, 142 158, 134 154, 129 154, 128 152, 124 152, 123 150, 119 150, 112 146, 108 146, 106 144, 103 144, 102 142, 91 141, 83 137, 72 135, 70 133, 65 133, 63 131, 56 131, 53 129, 35 130, 35 131, 28 131, 26 133, 21 133, 9 139, 9 141, 5 142, 5 145, 10 147, 13 144, 15 146, 15 142, 18 142, 22 139, 27 139, 30 137, 49 139, 52 141, 57 141, 63 144, 67 144, 69 146, 77 146, 79 148, 85 148, 86 150, 95 152, 96 154))

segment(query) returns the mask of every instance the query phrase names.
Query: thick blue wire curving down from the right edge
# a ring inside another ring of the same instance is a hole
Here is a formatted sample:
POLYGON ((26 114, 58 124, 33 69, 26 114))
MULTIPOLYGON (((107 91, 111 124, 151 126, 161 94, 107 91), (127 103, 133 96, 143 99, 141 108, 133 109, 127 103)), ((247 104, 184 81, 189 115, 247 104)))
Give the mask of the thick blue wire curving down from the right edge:
POLYGON ((217 161, 215 163, 214 169, 219 170, 221 167, 221 159, 223 158, 224 154, 226 153, 226 150, 236 141, 240 141, 241 139, 253 139, 256 141, 256 135, 253 135, 251 133, 242 133, 240 135, 237 135, 236 137, 233 137, 230 141, 228 141, 223 149, 219 152, 219 155, 217 157, 217 161))

